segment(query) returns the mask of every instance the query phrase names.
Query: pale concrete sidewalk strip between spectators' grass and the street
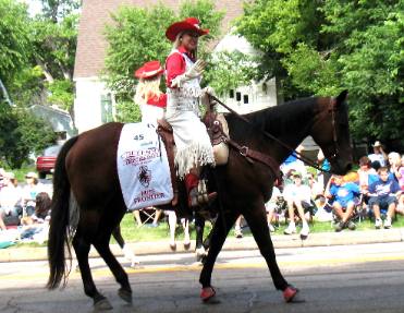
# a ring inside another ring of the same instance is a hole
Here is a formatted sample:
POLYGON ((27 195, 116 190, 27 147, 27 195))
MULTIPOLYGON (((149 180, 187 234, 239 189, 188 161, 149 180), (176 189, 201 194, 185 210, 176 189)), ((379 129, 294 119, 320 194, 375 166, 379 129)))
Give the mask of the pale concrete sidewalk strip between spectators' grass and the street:
MULTIPOLYGON (((323 245, 344 245, 344 244, 366 244, 382 242, 401 242, 404 241, 404 228, 364 230, 364 231, 342 231, 342 232, 317 232, 310 233, 306 240, 301 240, 298 234, 272 236, 272 242, 276 249, 280 248, 302 248, 302 246, 323 246, 323 245)), ((149 241, 149 242, 128 242, 128 246, 136 255, 173 253, 169 246, 169 240, 149 241)), ((258 249, 253 237, 235 239, 228 237, 223 250, 255 250, 258 249)), ((122 256, 122 250, 118 244, 111 244, 114 255, 122 256)), ((195 241, 188 252, 195 250, 195 241)), ((185 252, 182 242, 177 242, 176 253, 185 252)), ((91 249, 90 257, 98 256, 97 252, 91 249)), ((8 248, 0 250, 0 262, 19 262, 19 261, 44 261, 47 260, 47 248, 8 248)))

